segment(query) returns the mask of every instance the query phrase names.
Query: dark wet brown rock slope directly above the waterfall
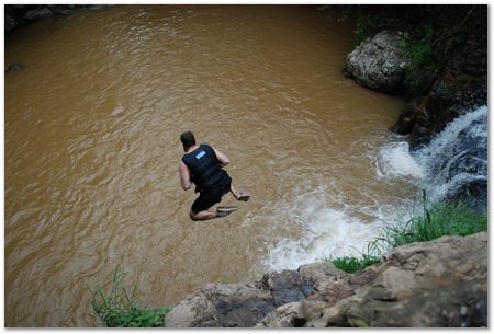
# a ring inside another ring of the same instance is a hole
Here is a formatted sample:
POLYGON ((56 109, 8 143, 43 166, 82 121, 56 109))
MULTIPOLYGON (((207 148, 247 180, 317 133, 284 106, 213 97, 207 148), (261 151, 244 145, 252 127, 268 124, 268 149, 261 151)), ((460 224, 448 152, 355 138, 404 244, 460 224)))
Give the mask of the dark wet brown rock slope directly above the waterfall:
POLYGON ((392 130, 409 135, 411 148, 417 149, 427 145, 449 122, 481 105, 487 105, 486 31, 470 36, 429 91, 405 104, 392 130))

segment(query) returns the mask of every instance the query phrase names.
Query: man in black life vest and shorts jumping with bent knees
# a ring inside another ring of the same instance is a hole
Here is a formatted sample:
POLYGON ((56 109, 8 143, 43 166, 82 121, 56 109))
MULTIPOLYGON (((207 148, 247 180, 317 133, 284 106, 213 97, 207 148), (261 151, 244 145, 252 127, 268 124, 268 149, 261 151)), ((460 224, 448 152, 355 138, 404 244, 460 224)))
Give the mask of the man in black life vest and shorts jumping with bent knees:
POLYGON ((194 183, 195 193, 199 192, 199 197, 190 209, 190 219, 222 218, 235 211, 236 207, 218 207, 215 211, 210 210, 228 192, 237 200, 249 200, 249 195, 235 191, 232 177, 223 170, 229 163, 228 157, 206 143, 195 145, 195 138, 191 131, 183 133, 180 141, 186 152, 180 161, 180 184, 184 191, 188 191, 194 183))

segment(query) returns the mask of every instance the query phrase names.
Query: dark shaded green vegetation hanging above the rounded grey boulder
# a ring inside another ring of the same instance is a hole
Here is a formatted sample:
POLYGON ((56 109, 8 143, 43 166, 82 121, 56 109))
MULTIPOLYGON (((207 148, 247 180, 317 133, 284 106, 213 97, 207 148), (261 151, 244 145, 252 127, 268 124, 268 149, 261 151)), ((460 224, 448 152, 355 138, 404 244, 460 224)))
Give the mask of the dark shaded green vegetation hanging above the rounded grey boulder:
POLYGON ((403 82, 408 96, 426 92, 469 38, 483 38, 484 44, 487 38, 487 7, 482 4, 350 4, 318 10, 339 15, 328 16, 328 22, 355 21, 356 46, 384 30, 403 32, 401 45, 411 60, 403 82))

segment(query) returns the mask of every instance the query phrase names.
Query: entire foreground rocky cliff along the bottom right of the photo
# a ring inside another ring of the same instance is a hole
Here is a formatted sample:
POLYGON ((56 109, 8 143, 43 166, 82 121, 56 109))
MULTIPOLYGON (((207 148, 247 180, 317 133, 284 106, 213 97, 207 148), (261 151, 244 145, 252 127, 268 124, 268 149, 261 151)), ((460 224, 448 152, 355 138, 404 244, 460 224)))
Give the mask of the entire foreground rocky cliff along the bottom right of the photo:
POLYGON ((169 327, 459 327, 487 325, 487 233, 397 247, 346 274, 329 263, 210 284, 167 316, 169 327))

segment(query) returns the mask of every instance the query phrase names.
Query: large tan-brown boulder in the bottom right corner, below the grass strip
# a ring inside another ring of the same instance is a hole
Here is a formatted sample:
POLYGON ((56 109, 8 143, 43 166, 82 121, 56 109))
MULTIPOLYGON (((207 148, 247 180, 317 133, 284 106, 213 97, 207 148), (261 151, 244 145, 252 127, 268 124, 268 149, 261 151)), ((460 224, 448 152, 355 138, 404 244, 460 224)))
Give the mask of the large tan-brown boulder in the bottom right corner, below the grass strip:
POLYGON ((485 232, 401 246, 257 326, 486 326, 487 255, 485 232))

